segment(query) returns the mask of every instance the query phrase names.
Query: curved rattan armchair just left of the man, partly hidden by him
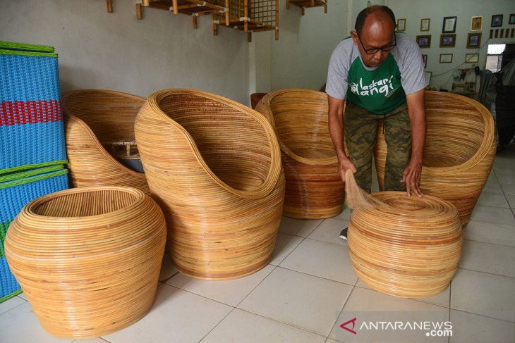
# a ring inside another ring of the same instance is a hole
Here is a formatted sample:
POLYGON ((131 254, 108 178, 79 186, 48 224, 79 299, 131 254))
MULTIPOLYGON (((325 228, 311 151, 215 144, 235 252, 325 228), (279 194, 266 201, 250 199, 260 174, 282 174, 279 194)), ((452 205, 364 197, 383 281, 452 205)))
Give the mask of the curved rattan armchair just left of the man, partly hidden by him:
POLYGON ((256 106, 272 125, 286 174, 284 216, 329 218, 344 207, 344 182, 328 129, 327 94, 308 89, 269 93, 256 106))

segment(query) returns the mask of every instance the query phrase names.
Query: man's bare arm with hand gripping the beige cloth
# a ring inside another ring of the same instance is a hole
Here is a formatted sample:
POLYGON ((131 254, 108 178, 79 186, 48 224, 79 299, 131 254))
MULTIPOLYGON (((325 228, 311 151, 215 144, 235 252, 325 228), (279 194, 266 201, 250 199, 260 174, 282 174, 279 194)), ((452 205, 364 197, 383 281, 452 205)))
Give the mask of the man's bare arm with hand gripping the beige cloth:
POLYGON ((336 99, 327 95, 329 101, 329 135, 331 135, 334 149, 338 156, 338 172, 341 180, 345 182, 345 172, 347 169, 356 173, 356 166, 346 156, 344 150, 344 99, 336 99))

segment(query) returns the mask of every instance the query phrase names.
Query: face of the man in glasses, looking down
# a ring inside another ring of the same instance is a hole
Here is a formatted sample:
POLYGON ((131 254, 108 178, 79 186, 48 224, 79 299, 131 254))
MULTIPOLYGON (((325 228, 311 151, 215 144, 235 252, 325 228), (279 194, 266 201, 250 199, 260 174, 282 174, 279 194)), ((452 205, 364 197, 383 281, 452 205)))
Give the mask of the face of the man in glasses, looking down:
POLYGON ((390 53, 383 49, 395 44, 392 20, 384 15, 377 18, 375 13, 371 13, 365 19, 360 35, 356 31, 351 31, 351 36, 354 44, 358 46, 363 63, 370 68, 383 63, 390 53))

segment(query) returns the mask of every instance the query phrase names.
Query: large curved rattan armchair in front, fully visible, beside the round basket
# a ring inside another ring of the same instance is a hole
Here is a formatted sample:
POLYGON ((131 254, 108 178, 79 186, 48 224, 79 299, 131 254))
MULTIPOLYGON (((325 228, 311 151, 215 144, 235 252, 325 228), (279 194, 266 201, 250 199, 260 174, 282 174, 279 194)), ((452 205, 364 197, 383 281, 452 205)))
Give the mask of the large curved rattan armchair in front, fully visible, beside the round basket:
POLYGON ((222 96, 164 89, 148 96, 135 136, 181 273, 224 280, 269 263, 284 173, 265 118, 222 96))

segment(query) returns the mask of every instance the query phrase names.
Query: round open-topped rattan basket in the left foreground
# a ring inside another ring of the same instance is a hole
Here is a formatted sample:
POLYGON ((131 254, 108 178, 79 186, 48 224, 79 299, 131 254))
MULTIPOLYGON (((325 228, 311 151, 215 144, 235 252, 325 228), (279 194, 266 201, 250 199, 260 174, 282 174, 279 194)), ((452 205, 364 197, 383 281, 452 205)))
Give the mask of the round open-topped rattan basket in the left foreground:
POLYGON ((82 187, 23 207, 6 257, 42 327, 58 337, 107 335, 154 302, 166 225, 139 189, 82 187))

